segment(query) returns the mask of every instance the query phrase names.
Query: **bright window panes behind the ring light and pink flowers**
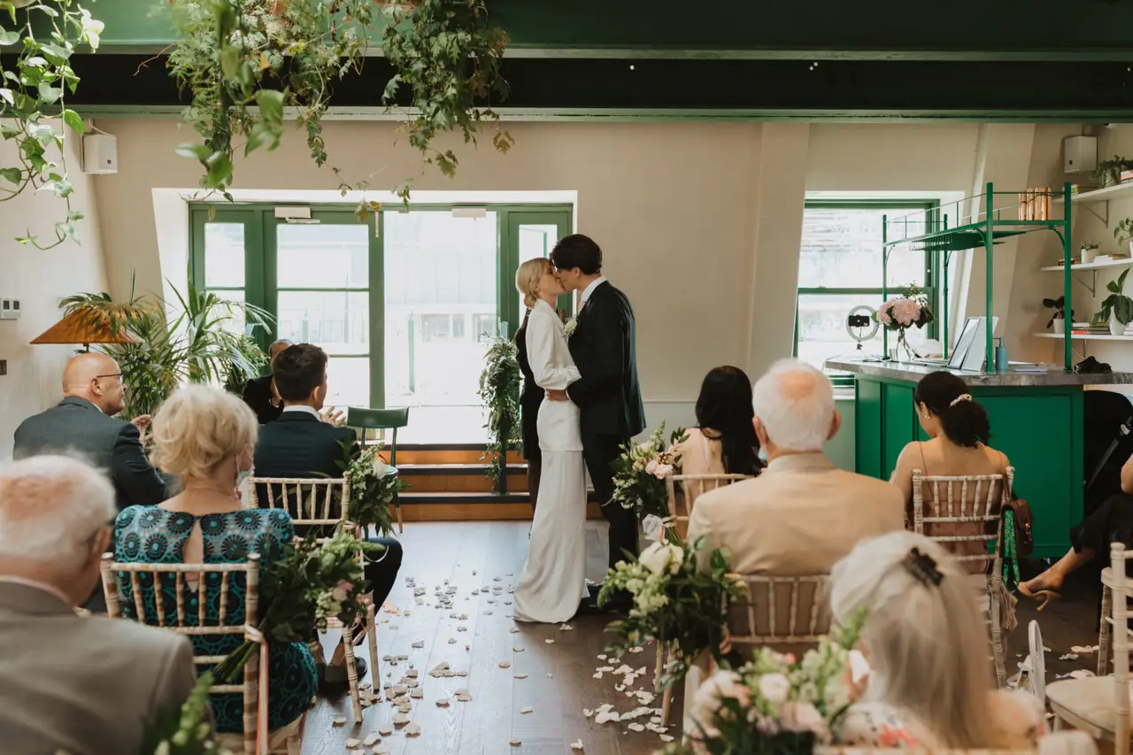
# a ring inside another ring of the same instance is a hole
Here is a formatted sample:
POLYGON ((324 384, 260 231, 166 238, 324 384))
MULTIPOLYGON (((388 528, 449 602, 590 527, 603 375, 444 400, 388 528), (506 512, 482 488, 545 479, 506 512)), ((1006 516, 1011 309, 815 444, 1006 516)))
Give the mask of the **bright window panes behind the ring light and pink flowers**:
MULTIPOLYGON (((917 236, 923 232, 935 207, 935 202, 927 201, 807 203, 795 316, 794 348, 800 359, 821 368, 832 357, 881 355, 880 332, 862 343, 862 350, 857 349, 857 341, 846 331, 846 316, 855 306, 876 309, 881 304, 883 218, 891 223, 906 219, 901 237, 917 236)), ((935 297, 935 273, 932 253, 908 245, 894 247, 888 258, 889 298, 910 283, 935 297)), ((915 331, 910 341, 936 334, 935 328, 926 331, 915 331)))

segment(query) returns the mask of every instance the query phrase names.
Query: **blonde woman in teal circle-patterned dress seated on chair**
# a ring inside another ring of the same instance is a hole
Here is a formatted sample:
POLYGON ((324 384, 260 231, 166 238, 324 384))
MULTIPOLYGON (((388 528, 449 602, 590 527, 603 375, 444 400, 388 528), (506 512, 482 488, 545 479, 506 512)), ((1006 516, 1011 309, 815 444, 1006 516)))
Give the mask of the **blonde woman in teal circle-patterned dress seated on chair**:
MULTIPOLYGON (((154 458, 163 469, 177 474, 182 491, 156 507, 131 506, 114 523, 114 560, 142 563, 239 563, 248 553, 264 561, 282 553, 293 536, 287 511, 245 509, 236 487, 252 469, 253 449, 259 426, 245 404, 219 388, 187 385, 165 402, 153 419, 154 458)), ((208 577, 210 579, 212 576, 208 577)), ((218 583, 220 580, 216 575, 218 583)), ((190 589, 198 585, 189 583, 190 589)), ((177 583, 161 585, 165 623, 177 623, 177 583)), ((122 612, 133 614, 129 579, 119 576, 122 612)), ((246 585, 239 578, 229 585, 232 596, 228 618, 241 621, 246 585)), ((216 594, 215 589, 210 593, 216 594)), ((152 584, 143 585, 147 613, 156 613, 152 584)), ((196 599, 185 611, 187 622, 197 620, 196 599)), ((205 623, 220 619, 219 603, 205 606, 205 623)), ((227 655, 244 642, 241 635, 194 637, 202 655, 227 655)), ((305 643, 269 642, 267 724, 278 729, 298 719, 315 695, 315 660, 305 643)), ((244 730, 244 701, 239 694, 212 695, 216 730, 244 730)))

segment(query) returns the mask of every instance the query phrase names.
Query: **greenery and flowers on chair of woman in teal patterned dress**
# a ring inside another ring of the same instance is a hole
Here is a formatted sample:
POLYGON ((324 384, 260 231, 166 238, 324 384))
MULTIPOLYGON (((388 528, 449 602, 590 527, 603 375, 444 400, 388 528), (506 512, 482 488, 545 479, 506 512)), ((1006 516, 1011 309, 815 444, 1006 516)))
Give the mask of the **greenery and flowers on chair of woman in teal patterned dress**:
MULTIPOLYGON (((315 630, 326 631, 332 618, 352 626, 366 612, 361 595, 368 585, 359 551, 384 550, 384 545, 359 540, 352 528, 340 526, 322 545, 312 533, 288 543, 279 559, 265 553, 259 571, 264 612, 255 628, 267 642, 295 643, 308 642, 315 630)), ((216 665, 218 678, 231 682, 256 650, 257 643, 246 639, 216 665)))

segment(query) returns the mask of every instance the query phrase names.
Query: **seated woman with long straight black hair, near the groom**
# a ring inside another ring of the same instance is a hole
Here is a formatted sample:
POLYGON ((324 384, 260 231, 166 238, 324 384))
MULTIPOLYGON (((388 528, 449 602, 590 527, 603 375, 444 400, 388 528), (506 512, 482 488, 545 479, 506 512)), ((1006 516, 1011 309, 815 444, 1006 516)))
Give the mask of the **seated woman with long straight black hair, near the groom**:
MULTIPOLYGON (((673 447, 673 452, 681 457, 681 474, 758 475, 764 465, 759 460, 753 419, 748 375, 729 366, 709 372, 697 398, 697 427, 687 430, 684 441, 673 447)), ((699 485, 684 484, 688 506, 699 494, 699 485)))

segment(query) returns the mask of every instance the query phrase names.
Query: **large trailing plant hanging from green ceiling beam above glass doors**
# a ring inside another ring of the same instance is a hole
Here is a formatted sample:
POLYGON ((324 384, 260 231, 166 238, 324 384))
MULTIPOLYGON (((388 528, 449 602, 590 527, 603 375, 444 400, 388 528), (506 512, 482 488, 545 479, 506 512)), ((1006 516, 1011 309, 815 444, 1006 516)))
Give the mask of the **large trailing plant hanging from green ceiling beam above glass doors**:
POLYGON ((373 0, 171 0, 171 8, 179 42, 170 75, 193 95, 184 118, 204 139, 178 154, 201 162, 201 185, 231 200, 233 154, 278 147, 284 108, 295 109, 315 164, 325 164, 331 84, 360 69, 373 0))

